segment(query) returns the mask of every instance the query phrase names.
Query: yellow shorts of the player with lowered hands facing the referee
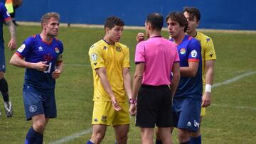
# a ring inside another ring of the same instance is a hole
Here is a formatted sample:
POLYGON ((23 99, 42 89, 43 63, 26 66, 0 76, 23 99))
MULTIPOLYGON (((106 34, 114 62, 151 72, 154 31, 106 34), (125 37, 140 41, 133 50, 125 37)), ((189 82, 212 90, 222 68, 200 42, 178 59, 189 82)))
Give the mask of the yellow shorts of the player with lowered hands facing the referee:
POLYGON ((118 102, 122 108, 115 111, 111 101, 94 101, 92 111, 92 125, 104 124, 107 126, 125 125, 130 123, 127 102, 118 102))

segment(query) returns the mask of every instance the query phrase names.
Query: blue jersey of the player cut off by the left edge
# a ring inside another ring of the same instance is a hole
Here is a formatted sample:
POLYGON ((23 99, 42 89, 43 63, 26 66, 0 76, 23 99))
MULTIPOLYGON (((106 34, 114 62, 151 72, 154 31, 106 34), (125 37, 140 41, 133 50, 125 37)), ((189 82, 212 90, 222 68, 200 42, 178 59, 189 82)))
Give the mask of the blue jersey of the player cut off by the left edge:
POLYGON ((4 43, 3 38, 3 22, 11 19, 10 14, 7 12, 6 7, 0 2, 0 44, 4 43))

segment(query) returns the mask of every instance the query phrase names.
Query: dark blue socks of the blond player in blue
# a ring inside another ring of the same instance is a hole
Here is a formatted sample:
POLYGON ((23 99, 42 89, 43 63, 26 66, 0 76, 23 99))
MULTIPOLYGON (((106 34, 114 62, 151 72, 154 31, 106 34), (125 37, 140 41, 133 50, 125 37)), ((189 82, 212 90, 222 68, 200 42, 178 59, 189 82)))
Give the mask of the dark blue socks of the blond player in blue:
POLYGON ((33 127, 28 130, 25 144, 41 144, 43 143, 43 134, 36 132, 33 127))

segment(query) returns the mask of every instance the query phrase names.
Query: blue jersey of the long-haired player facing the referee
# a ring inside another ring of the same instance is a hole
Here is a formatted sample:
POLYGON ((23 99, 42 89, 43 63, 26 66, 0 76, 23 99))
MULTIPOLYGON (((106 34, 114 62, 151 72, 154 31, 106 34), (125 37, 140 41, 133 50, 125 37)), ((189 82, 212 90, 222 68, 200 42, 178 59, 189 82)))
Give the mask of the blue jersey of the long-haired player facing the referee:
MULTIPOLYGON (((171 41, 174 41, 171 38, 171 41)), ((202 97, 202 58, 201 45, 196 38, 185 35, 182 42, 177 45, 178 55, 180 57, 180 67, 188 67, 188 62, 199 62, 196 77, 182 77, 178 84, 176 97, 191 97, 201 101, 202 97)))

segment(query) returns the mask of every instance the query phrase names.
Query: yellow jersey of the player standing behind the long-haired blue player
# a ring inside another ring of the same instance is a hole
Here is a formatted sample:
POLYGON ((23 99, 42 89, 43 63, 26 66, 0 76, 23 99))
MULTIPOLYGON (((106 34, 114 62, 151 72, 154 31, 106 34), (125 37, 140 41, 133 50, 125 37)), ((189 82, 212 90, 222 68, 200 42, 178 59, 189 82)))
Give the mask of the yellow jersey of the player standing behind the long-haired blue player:
POLYGON ((201 32, 197 32, 196 37, 200 41, 201 51, 202 51, 202 76, 203 76, 203 89, 206 84, 206 61, 207 60, 216 60, 213 40, 204 35, 201 32))

